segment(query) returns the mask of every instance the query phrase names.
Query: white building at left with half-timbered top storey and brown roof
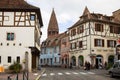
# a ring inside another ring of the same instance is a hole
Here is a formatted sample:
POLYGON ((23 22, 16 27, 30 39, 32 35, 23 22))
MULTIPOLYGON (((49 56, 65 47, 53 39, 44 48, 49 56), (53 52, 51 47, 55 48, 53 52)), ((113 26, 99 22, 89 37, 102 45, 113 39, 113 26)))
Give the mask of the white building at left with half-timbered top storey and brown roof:
POLYGON ((0 66, 7 69, 17 61, 29 71, 36 69, 42 26, 38 7, 24 0, 0 0, 0 66))

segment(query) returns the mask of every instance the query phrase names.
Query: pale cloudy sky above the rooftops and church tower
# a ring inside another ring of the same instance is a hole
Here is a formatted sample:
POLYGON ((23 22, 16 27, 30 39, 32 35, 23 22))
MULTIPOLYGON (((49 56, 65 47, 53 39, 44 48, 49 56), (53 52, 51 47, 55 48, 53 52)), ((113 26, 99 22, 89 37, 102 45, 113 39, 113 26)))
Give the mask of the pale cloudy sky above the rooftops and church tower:
POLYGON ((43 28, 42 41, 47 37, 47 28, 52 9, 54 8, 59 30, 64 32, 71 27, 82 15, 87 6, 91 13, 101 13, 111 16, 112 12, 120 9, 119 0, 26 0, 28 3, 40 7, 43 28))

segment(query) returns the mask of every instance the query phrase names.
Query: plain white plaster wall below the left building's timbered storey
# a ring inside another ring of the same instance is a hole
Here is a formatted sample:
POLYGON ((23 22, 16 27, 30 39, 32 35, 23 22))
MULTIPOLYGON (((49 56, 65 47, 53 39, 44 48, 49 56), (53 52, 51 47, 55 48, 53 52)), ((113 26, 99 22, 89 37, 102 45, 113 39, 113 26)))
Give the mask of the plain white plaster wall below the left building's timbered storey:
POLYGON ((8 68, 11 63, 16 61, 17 56, 20 56, 20 63, 23 65, 25 53, 28 52, 28 67, 31 70, 31 50, 28 47, 34 46, 34 27, 0 27, 0 44, 2 44, 0 45, 0 66, 8 68), (13 32, 15 40, 7 41, 7 32, 13 32), (7 44, 9 45, 7 46, 7 44), (8 56, 12 58, 11 63, 8 63, 8 56))

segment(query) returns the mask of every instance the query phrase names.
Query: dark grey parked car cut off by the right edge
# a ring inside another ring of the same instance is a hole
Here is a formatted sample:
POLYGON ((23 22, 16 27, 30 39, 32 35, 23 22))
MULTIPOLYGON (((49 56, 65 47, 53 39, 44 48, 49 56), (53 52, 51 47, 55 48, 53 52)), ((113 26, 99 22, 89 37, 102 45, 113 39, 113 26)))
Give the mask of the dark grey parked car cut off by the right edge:
POLYGON ((120 76, 120 60, 115 61, 112 68, 109 69, 110 77, 120 76))

